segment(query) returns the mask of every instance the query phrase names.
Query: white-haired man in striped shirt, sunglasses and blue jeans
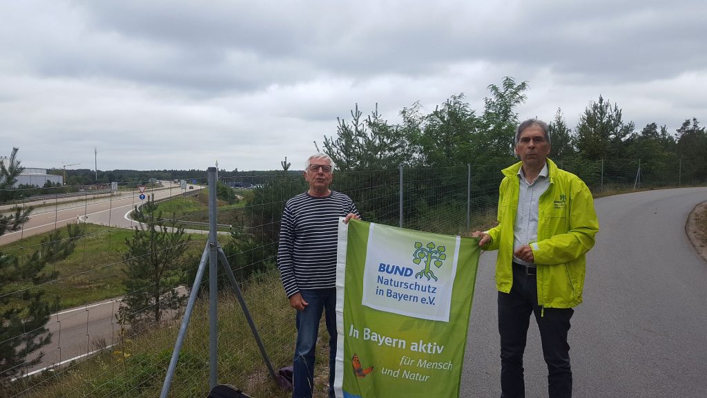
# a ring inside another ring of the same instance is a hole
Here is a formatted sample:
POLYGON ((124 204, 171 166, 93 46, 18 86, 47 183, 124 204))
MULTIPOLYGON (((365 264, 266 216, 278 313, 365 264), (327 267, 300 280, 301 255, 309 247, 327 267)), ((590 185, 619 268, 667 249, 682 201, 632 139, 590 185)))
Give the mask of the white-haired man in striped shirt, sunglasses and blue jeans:
POLYGON ((304 177, 309 190, 287 201, 277 254, 282 284, 291 307, 297 310, 292 396, 312 397, 317 334, 324 312, 329 331, 329 397, 333 398, 339 217, 344 222, 359 217, 351 198, 329 189, 334 161, 327 154, 309 157, 304 177))

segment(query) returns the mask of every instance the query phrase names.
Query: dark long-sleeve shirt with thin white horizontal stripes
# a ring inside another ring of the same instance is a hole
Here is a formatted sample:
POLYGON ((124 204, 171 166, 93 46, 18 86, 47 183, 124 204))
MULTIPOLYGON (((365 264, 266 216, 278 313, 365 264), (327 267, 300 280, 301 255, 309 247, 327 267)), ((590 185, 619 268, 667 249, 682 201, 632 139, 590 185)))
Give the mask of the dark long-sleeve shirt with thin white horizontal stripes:
POLYGON ((300 193, 287 201, 277 252, 287 297, 300 289, 336 286, 339 217, 349 213, 358 215, 354 201, 334 191, 324 198, 300 193))

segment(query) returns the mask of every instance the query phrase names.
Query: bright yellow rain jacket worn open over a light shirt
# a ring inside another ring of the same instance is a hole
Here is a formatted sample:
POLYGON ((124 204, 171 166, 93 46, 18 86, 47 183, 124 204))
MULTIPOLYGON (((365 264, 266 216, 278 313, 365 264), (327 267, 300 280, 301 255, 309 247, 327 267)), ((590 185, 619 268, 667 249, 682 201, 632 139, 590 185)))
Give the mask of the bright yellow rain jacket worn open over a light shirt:
MULTIPOLYGON (((522 162, 503 169, 498 198, 498 225, 489 229, 484 250, 498 249, 496 288, 513 285, 513 225, 518 210, 518 170, 522 162)), ((571 308, 582 302, 585 254, 594 246, 599 221, 594 198, 578 176, 558 169, 547 159, 550 186, 539 198, 537 241, 530 244, 537 265, 537 302, 547 308, 571 308)))

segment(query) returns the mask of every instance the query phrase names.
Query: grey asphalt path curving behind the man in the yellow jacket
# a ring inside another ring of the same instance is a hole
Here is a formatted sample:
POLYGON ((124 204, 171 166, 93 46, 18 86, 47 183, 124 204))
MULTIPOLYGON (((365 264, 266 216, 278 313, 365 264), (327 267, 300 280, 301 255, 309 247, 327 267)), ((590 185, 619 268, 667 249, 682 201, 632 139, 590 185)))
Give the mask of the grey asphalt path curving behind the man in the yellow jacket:
MULTIPOLYGON (((570 330, 573 397, 707 397, 707 263, 685 234, 707 188, 595 200, 584 303, 570 330)), ((481 256, 461 397, 500 397, 496 252, 481 256)), ((526 396, 547 397, 540 336, 530 322, 526 396)))

